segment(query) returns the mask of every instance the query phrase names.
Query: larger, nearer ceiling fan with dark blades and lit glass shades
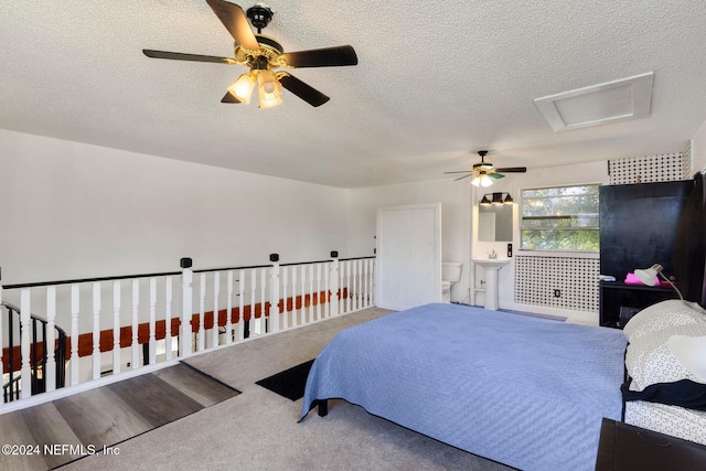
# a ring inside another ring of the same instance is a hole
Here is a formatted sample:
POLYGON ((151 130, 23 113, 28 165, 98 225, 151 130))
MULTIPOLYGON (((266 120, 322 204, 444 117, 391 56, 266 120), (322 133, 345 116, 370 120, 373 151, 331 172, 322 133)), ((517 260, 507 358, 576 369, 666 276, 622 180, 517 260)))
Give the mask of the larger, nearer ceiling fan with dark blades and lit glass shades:
POLYGON ((257 86, 259 108, 269 108, 281 104, 282 87, 311 106, 321 106, 330 99, 328 96, 288 72, 276 71, 276 68, 330 67, 357 64, 355 51, 350 45, 285 53, 285 50, 277 41, 260 34, 263 29, 269 24, 274 14, 272 10, 263 3, 256 3, 247 9, 247 12, 243 12, 239 6, 224 0, 206 0, 206 3, 208 3, 235 40, 234 57, 184 54, 149 49, 145 49, 142 52, 148 57, 238 64, 249 67, 249 72, 240 75, 227 88, 228 93, 221 99, 222 103, 248 104, 253 90, 257 86), (248 19, 257 28, 257 34, 250 29, 248 19))

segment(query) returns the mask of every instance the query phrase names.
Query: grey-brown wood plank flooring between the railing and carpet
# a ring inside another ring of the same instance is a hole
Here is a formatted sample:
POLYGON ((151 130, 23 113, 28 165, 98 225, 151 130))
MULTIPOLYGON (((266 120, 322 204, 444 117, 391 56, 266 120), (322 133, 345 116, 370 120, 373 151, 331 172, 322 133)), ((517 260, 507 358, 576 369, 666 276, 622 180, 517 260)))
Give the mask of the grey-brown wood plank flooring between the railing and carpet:
POLYGON ((31 452, 12 456, 3 449, 0 470, 56 468, 238 394, 180 363, 0 415, 0 445, 17 445, 31 452), (45 446, 52 451, 47 453, 45 446))

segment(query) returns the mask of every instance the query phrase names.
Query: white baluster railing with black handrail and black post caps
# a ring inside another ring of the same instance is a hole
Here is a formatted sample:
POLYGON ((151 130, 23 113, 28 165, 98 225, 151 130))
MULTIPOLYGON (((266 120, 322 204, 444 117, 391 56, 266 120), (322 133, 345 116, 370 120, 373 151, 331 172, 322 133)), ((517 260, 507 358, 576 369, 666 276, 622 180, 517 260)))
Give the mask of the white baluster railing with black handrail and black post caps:
MULTIPOLYGON (((61 327, 61 319, 71 324, 71 374, 65 386, 99 385, 110 381, 105 376, 169 364, 374 306, 374 258, 331 256, 328 260, 279 264, 279 256, 272 254, 269 265, 199 270, 192 269, 191 259, 182 258, 181 271, 0 286, 0 302, 19 299, 22 377, 32 375, 30 317, 39 312, 47 319, 50 344, 54 342, 53 327, 61 327), (182 296, 176 299, 174 276, 181 277, 182 296), (181 311, 179 319, 174 311, 181 311), (179 343, 175 352, 173 340, 179 343)), ((7 373, 8 367, 1 357, 2 334, 7 338, 3 322, 0 319, 0 373, 7 373)), ((46 362, 45 371, 51 375, 47 392, 52 393, 53 351, 46 362)), ((20 398, 31 396, 31 388, 23 387, 20 398)), ((10 408, 11 403, 0 403, 0 414, 10 408)))

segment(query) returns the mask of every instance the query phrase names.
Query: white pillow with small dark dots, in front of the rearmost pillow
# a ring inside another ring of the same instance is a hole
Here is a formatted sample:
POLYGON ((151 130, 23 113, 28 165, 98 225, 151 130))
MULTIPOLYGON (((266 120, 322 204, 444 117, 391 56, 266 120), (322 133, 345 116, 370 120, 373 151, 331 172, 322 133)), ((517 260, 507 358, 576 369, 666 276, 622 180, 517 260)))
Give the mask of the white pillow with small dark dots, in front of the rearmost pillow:
POLYGON ((651 384, 680 379, 700 383, 672 353, 668 345, 672 335, 704 336, 706 322, 666 327, 630 342, 625 353, 625 368, 632 377, 630 389, 642 390, 651 384))

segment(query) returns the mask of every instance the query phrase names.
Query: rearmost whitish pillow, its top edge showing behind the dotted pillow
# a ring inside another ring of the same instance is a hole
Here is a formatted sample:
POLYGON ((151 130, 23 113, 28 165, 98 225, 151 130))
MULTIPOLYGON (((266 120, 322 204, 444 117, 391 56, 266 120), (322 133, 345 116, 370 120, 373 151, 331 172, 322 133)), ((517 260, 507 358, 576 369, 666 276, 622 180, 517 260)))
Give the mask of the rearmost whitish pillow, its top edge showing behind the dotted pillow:
POLYGON ((706 322, 706 310, 696 302, 670 299, 657 302, 632 317, 623 332, 628 341, 633 342, 642 335, 657 332, 672 325, 686 325, 706 322))

